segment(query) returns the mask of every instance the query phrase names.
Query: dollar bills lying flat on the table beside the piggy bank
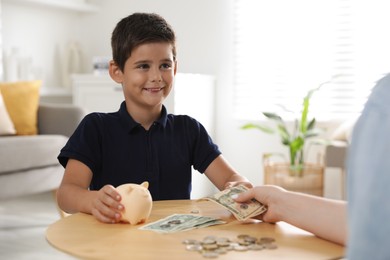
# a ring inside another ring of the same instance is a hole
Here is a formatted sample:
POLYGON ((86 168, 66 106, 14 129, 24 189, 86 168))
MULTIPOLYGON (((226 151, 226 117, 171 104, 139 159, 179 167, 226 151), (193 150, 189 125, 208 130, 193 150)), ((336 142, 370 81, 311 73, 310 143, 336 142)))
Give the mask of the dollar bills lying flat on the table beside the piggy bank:
POLYGON ((226 222, 212 217, 193 214, 173 214, 158 221, 146 224, 139 229, 151 230, 158 233, 174 233, 224 223, 226 222))

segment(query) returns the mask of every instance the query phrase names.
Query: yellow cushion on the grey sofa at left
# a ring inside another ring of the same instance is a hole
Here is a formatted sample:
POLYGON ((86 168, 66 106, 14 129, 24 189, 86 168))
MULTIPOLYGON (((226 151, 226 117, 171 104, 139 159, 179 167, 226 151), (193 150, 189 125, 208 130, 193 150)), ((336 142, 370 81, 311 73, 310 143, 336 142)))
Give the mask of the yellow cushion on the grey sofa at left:
POLYGON ((17 135, 38 133, 39 89, 42 81, 0 83, 0 91, 17 135))

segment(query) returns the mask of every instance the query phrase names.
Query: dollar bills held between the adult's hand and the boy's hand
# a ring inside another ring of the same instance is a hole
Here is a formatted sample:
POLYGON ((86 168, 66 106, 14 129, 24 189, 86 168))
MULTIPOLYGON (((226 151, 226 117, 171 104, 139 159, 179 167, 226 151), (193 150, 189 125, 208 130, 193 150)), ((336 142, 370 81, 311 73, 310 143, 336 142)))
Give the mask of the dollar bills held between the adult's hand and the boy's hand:
POLYGON ((238 220, 243 221, 251 217, 260 215, 267 210, 267 207, 261 204, 256 199, 244 203, 238 203, 232 199, 232 195, 247 191, 248 188, 244 185, 235 186, 223 191, 220 191, 212 196, 204 199, 213 201, 218 205, 229 210, 238 220))

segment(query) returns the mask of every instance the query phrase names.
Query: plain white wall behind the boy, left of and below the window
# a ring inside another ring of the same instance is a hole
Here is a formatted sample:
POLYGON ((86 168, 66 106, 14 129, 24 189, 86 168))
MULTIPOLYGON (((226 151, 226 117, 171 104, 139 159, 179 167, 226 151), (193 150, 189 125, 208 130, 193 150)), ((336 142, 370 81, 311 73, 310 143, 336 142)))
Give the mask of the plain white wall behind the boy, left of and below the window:
MULTIPOLYGON (((232 118, 232 0, 94 0, 97 13, 3 2, 3 46, 19 47, 42 69, 45 87, 61 85, 59 46, 78 41, 85 72, 92 56, 111 56, 110 37, 115 24, 138 11, 164 16, 176 31, 179 72, 203 73, 217 78, 216 139, 225 157, 255 184, 262 183, 262 154, 285 151, 277 136, 243 131, 245 122, 232 118)), ((259 97, 261 102, 261 96, 259 97)), ((201 100, 200 100, 201 104, 201 100)))

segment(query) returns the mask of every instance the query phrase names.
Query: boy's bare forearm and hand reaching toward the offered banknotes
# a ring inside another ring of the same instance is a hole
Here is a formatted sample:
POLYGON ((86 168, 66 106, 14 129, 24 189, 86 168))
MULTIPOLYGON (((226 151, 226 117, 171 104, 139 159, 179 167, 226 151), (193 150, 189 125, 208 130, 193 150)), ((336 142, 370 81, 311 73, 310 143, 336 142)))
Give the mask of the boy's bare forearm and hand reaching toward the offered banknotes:
POLYGON ((248 179, 239 175, 222 155, 219 155, 210 163, 205 174, 219 190, 239 184, 244 184, 248 188, 252 187, 248 179))

